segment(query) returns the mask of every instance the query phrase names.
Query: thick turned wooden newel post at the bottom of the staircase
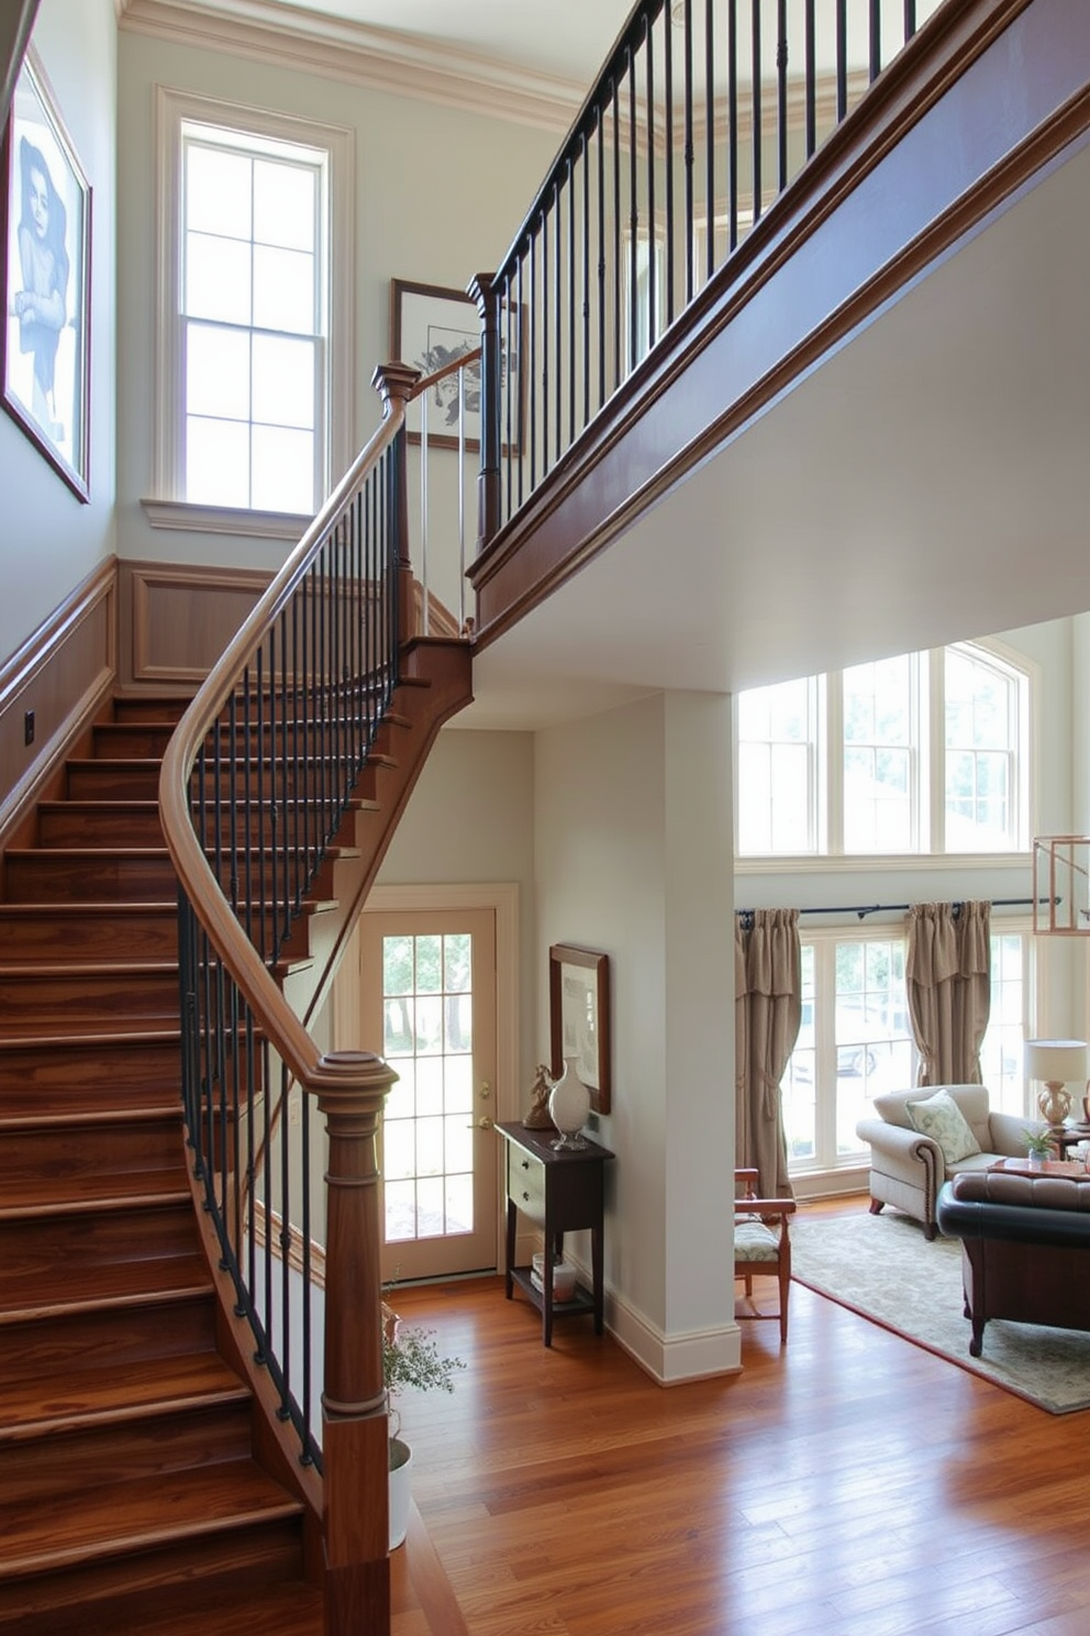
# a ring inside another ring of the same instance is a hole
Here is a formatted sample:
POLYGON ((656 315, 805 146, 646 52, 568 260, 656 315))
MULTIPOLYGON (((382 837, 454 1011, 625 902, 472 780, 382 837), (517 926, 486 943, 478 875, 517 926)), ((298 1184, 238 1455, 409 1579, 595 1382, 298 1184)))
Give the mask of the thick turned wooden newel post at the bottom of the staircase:
POLYGON ((391 1628, 389 1428, 374 1137, 395 1080, 381 1057, 338 1050, 322 1057, 314 1085, 328 1132, 322 1392, 325 1636, 389 1636, 391 1628))

